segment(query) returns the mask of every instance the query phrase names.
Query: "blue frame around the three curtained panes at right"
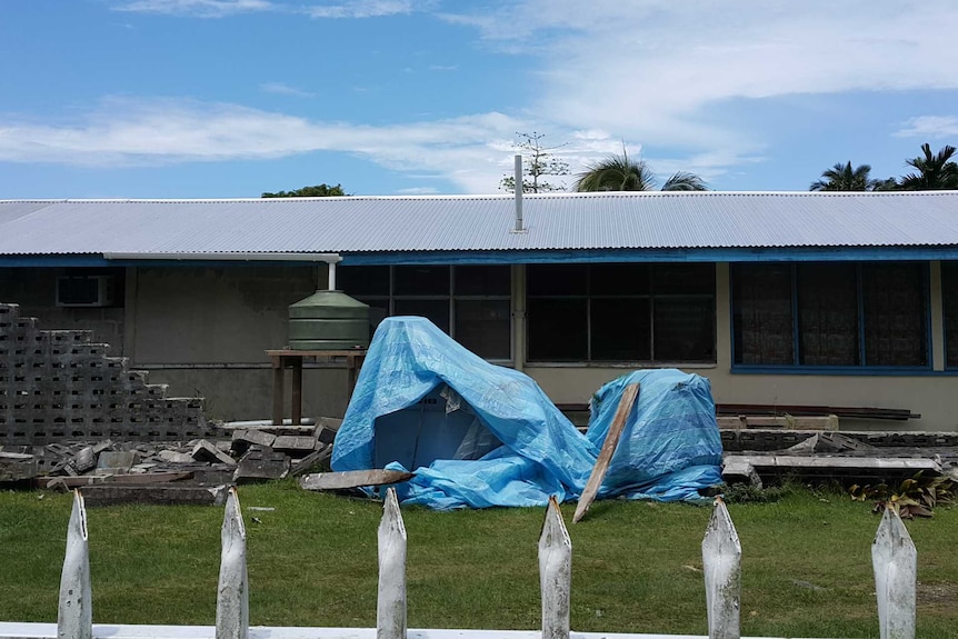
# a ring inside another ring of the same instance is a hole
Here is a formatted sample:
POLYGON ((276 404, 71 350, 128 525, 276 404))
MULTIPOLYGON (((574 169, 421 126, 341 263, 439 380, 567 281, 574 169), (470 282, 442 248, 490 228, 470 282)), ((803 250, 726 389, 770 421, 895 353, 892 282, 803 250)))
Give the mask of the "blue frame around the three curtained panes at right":
MULTIPOLYGON (((761 262, 732 262, 729 268, 729 352, 731 356, 731 372, 741 373, 787 373, 787 375, 867 375, 867 376, 900 376, 900 375, 927 375, 934 372, 934 345, 932 345, 932 300, 931 300, 931 263, 928 260, 888 260, 888 261, 826 261, 826 262, 788 262, 790 270, 790 298, 791 298, 791 339, 792 339, 792 363, 740 363, 736 361, 736 312, 737 300, 735 296, 737 271, 749 266, 761 262), (804 365, 800 349, 800 313, 798 300, 798 267, 805 263, 820 264, 851 264, 855 267, 856 307, 857 307, 857 331, 858 331, 858 357, 861 363, 857 365, 804 365), (889 263, 919 264, 920 292, 922 296, 921 309, 924 312, 922 329, 925 331, 925 363, 924 365, 869 365, 867 358, 867 338, 864 297, 862 269, 870 266, 889 263)), ((944 293, 944 290, 942 290, 944 293)))

